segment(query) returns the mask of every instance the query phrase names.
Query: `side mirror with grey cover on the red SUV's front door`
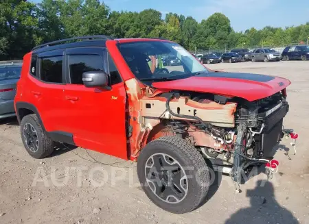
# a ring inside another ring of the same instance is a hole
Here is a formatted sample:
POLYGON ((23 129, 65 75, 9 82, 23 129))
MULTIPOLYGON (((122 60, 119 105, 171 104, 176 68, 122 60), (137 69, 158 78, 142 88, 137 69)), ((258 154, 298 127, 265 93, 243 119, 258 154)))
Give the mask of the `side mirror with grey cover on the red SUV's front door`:
POLYGON ((82 73, 82 82, 86 87, 108 88, 108 75, 104 71, 87 71, 82 73))

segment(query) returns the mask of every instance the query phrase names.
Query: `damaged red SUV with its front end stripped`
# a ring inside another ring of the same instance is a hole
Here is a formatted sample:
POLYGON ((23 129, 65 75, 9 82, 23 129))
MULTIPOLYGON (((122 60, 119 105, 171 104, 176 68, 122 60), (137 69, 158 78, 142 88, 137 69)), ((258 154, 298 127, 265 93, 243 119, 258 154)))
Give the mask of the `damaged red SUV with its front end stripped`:
POLYGON ((184 213, 206 197, 209 166, 240 183, 273 161, 273 147, 293 134, 282 129, 289 84, 209 71, 168 40, 84 36, 27 53, 14 105, 32 157, 65 142, 137 161, 150 200, 184 213))

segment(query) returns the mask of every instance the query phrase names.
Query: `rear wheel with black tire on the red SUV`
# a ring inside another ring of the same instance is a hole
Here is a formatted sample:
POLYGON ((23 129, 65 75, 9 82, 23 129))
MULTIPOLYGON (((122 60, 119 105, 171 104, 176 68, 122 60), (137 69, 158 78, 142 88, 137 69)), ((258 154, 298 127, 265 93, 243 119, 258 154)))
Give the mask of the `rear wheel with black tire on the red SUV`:
POLYGON ((54 141, 46 136, 36 114, 24 116, 21 120, 21 138, 33 158, 45 158, 54 151, 54 141))

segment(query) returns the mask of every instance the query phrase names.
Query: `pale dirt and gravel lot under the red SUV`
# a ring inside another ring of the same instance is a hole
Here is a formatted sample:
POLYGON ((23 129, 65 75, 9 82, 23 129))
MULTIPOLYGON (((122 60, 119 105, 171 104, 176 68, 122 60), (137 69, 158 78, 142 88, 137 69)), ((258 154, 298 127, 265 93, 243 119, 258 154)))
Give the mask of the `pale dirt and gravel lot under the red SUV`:
POLYGON ((290 140, 283 140, 275 154, 279 173, 270 182, 260 173, 236 194, 230 177, 218 175, 201 208, 170 214, 144 195, 135 163, 62 145, 51 158, 34 160, 23 148, 16 120, 5 119, 0 121, 0 223, 309 223, 309 62, 209 68, 291 80, 284 125, 299 133, 297 155, 290 140))

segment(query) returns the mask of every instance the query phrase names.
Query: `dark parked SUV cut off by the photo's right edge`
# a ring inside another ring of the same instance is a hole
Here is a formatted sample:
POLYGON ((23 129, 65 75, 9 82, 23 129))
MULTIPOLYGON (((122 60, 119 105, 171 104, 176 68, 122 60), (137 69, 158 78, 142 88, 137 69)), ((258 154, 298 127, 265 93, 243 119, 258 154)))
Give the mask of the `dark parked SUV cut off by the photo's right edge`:
POLYGON ((303 60, 309 58, 309 47, 307 45, 288 46, 282 52, 282 60, 303 60))

